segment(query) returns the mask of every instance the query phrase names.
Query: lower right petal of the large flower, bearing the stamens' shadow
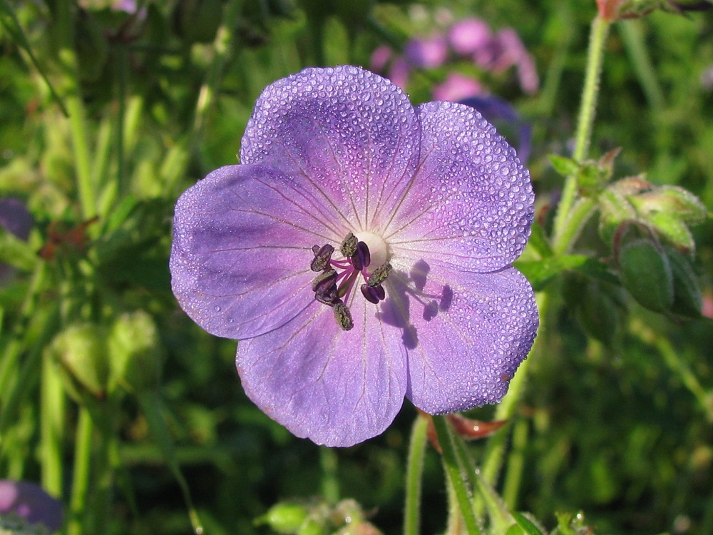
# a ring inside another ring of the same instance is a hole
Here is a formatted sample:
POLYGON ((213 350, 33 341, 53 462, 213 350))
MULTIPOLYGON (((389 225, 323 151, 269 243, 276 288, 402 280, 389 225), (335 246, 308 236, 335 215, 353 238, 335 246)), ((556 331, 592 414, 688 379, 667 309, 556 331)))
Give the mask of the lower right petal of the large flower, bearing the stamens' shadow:
POLYGON ((538 327, 528 280, 513 267, 447 272, 424 260, 395 274, 381 317, 404 333, 406 397, 431 414, 500 401, 538 327))

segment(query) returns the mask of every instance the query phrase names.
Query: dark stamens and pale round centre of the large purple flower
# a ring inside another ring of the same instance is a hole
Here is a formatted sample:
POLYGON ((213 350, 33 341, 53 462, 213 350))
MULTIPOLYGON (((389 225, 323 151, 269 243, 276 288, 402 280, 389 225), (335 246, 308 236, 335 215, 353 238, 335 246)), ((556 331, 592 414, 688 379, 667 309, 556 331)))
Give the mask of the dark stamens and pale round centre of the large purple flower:
POLYGON ((381 282, 389 276, 391 264, 386 261, 386 242, 373 233, 359 233, 358 237, 352 233, 347 234, 339 251, 344 260, 332 259, 332 245, 314 245, 314 258, 309 267, 319 272, 312 281, 314 299, 332 307, 337 325, 348 331, 354 327, 354 321, 349 307, 344 303, 352 295, 354 282, 359 275, 364 278, 364 284, 360 287, 361 295, 376 305, 386 298, 381 282))

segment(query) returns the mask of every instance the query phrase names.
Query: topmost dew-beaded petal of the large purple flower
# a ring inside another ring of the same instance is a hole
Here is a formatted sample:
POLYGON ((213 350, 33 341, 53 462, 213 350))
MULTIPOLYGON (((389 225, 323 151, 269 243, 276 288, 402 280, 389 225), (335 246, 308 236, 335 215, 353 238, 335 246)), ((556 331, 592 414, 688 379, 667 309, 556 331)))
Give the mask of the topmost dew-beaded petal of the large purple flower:
POLYGON ((359 232, 388 218, 409 188, 419 138, 416 111, 394 83, 354 66, 308 68, 265 88, 240 161, 302 175, 304 199, 332 206, 320 216, 359 232))

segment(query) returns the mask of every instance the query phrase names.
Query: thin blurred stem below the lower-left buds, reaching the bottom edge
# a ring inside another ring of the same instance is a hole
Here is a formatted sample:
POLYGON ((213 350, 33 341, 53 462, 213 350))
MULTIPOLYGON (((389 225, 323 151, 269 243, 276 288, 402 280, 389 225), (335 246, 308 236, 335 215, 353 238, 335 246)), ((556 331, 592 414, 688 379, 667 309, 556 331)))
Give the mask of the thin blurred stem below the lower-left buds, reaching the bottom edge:
POLYGON ((74 471, 72 477, 72 495, 69 501, 69 521, 67 535, 82 535, 87 532, 85 526, 89 476, 91 473, 91 443, 94 426, 86 407, 79 408, 77 422, 76 449, 74 450, 74 471))

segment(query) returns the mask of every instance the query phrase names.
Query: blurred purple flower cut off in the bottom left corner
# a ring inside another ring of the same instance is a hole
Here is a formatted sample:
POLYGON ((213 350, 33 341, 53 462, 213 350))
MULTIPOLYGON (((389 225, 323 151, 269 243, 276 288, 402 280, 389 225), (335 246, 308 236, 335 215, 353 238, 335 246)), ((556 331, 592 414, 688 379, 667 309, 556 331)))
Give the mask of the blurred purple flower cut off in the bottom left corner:
POLYGON ((50 531, 62 526, 62 504, 41 486, 29 481, 0 479, 0 514, 17 514, 31 524, 44 524, 50 531))

